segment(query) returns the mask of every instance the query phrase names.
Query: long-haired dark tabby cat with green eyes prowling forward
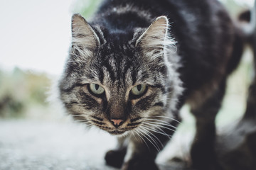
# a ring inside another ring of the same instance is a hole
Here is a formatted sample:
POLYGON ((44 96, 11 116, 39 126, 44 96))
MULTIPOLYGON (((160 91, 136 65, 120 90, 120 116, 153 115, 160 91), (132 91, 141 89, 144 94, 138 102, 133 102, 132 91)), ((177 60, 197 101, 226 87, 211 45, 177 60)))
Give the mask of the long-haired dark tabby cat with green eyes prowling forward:
POLYGON ((75 120, 117 136, 105 160, 122 170, 158 169, 188 104, 192 166, 218 169, 215 116, 244 42, 218 0, 105 0, 90 23, 72 17, 60 99, 75 120))

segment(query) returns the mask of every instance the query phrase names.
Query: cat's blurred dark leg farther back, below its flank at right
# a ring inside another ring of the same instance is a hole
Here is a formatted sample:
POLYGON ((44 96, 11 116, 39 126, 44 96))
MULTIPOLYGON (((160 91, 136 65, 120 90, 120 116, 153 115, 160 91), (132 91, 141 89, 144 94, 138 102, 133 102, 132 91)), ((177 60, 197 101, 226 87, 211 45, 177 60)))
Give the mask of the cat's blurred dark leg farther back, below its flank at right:
POLYGON ((191 146, 191 161, 194 169, 223 169, 215 153, 215 117, 225 94, 225 84, 226 80, 223 79, 212 96, 204 100, 198 107, 191 109, 196 118, 196 135, 191 146))

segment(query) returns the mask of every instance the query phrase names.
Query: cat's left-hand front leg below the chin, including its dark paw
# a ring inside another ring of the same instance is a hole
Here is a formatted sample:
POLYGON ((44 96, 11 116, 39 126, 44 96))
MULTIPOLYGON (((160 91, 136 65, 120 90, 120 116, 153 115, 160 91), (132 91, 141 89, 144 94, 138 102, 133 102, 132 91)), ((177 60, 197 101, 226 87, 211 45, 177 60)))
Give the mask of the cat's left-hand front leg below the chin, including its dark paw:
POLYGON ((114 166, 116 168, 121 168, 125 154, 127 153, 127 138, 118 137, 117 147, 108 151, 105 154, 105 161, 108 165, 114 166))

